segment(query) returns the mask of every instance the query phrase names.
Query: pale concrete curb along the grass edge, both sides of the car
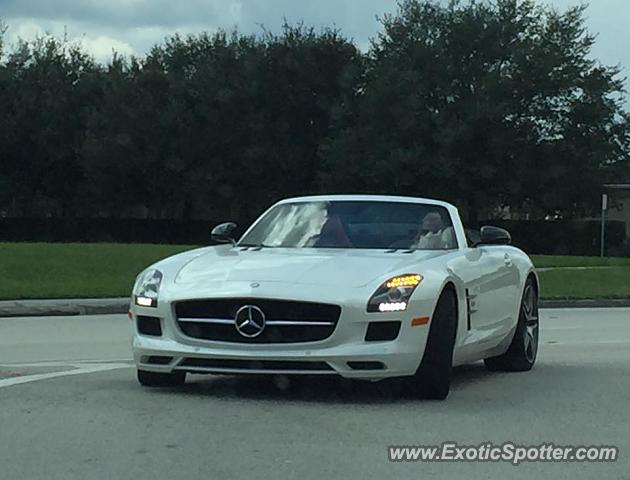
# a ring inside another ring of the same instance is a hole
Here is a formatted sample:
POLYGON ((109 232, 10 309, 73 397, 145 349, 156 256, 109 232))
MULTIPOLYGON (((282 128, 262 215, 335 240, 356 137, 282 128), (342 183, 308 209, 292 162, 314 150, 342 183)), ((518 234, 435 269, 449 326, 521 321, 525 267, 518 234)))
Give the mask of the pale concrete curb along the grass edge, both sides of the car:
MULTIPOLYGON (((626 300, 541 300, 541 308, 630 308, 626 300)), ((0 301, 2 317, 49 317, 127 313, 129 298, 0 301)))

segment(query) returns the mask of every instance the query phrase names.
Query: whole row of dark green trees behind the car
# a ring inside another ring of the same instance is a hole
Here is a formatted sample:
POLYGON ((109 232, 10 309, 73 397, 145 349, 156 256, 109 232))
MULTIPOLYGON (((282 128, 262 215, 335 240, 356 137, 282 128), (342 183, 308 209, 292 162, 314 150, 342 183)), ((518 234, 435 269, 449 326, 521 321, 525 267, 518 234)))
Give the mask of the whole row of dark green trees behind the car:
POLYGON ((0 216, 251 219, 332 192, 587 214, 628 169, 630 121, 585 8, 403 0, 366 52, 304 25, 107 64, 0 36, 0 216))

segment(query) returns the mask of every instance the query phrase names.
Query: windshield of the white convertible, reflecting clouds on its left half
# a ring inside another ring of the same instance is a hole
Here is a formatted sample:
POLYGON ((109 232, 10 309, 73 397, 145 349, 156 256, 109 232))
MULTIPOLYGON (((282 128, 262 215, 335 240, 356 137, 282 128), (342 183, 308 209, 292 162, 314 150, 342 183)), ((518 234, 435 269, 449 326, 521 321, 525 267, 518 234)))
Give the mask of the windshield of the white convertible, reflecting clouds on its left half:
POLYGON ((450 250, 457 248, 446 208, 422 203, 313 201, 269 210, 240 246, 450 250))

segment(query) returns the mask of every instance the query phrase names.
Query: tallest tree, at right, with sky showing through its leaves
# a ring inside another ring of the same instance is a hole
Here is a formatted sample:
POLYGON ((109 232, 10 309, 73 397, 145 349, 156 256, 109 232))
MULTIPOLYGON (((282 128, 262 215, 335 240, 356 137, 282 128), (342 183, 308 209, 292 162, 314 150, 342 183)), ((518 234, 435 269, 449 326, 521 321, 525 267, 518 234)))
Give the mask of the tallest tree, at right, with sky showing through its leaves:
POLYGON ((585 8, 402 1, 324 147, 326 188, 443 197, 473 222, 499 206, 588 211, 629 129, 619 69, 590 59, 585 8))

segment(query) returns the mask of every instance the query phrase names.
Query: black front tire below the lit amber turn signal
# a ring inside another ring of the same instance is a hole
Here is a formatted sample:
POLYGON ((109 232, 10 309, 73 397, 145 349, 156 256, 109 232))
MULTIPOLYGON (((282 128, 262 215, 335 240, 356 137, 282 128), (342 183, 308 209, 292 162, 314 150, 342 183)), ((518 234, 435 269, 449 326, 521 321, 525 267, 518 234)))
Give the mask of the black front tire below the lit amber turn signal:
POLYGON ((411 379, 416 396, 431 400, 444 400, 448 396, 456 332, 457 295, 448 288, 435 306, 422 362, 411 379))

